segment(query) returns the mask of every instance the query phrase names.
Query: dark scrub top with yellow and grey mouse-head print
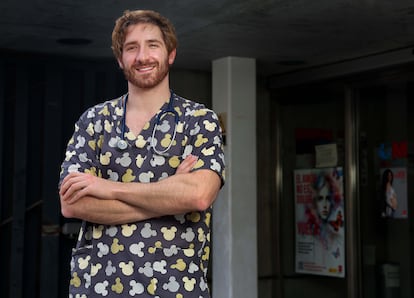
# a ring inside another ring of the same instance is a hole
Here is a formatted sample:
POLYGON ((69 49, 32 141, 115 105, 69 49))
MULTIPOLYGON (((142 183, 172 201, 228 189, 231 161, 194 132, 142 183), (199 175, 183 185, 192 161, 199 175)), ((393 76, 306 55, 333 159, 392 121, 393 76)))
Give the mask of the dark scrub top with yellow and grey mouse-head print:
MULTIPOLYGON (((126 127, 128 148, 117 148, 124 100, 122 96, 82 114, 67 146, 60 181, 70 172, 87 172, 114 181, 155 182, 174 175, 180 162, 193 154, 199 157, 194 170, 210 169, 224 183, 222 135, 212 110, 173 95, 179 123, 168 156, 163 156, 150 146, 156 116, 138 136, 126 127)), ((174 123, 169 113, 158 124, 158 152, 169 146, 174 123)), ((72 251, 69 297, 210 297, 206 275, 211 216, 210 207, 123 225, 84 221, 72 251)))

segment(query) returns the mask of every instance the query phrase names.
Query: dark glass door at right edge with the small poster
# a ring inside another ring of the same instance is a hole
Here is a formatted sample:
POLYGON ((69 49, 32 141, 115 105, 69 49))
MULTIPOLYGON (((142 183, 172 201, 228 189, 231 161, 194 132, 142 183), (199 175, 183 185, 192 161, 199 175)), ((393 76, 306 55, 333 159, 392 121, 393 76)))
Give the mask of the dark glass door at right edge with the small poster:
POLYGON ((362 294, 411 298, 414 75, 381 75, 355 90, 362 294))

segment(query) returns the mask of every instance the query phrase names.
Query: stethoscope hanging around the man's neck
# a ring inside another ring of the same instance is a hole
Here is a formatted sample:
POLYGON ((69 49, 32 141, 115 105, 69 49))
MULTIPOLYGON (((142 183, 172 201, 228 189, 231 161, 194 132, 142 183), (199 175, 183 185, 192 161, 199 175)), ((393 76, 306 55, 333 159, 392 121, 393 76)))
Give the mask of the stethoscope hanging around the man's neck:
MULTIPOLYGON (((166 109, 162 109, 161 112, 158 113, 157 115, 157 119, 155 121, 155 125, 154 128, 152 129, 152 134, 151 134, 151 142, 150 142, 150 147, 152 148, 152 150, 154 150, 154 152, 156 154, 159 155, 168 155, 167 151, 171 148, 172 144, 175 141, 175 136, 177 134, 177 125, 178 125, 178 121, 179 121, 179 115, 178 112, 176 110, 174 110, 174 105, 173 105, 173 100, 174 100, 174 93, 171 91, 171 95, 170 95, 170 100, 168 102, 168 106, 166 109), (160 125, 161 120, 165 117, 165 115, 172 113, 174 115, 174 133, 172 136, 172 139, 170 140, 169 145, 167 146, 167 148, 165 148, 164 150, 160 151, 155 147, 155 131, 158 130, 158 126, 160 125)), ((125 140, 125 130, 126 130, 126 104, 128 101, 128 94, 125 95, 125 99, 124 99, 124 111, 123 111, 123 115, 122 115, 122 132, 121 132, 121 138, 118 140, 116 146, 118 147, 119 150, 125 150, 128 147, 128 142, 125 140)))

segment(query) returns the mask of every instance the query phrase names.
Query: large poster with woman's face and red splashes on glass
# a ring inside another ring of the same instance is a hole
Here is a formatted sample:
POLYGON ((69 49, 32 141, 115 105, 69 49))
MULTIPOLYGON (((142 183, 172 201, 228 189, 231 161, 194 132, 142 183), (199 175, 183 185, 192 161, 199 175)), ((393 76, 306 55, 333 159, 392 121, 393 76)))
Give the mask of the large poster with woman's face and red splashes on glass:
POLYGON ((297 273, 345 277, 341 167, 294 171, 297 273))

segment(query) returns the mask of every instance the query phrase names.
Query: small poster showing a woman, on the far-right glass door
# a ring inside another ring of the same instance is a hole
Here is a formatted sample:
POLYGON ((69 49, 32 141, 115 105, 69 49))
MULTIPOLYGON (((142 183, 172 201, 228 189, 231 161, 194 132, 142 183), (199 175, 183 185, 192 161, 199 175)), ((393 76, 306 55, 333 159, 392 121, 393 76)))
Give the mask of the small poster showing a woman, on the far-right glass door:
POLYGON ((408 218, 407 169, 387 167, 380 170, 380 208, 384 218, 408 218))

